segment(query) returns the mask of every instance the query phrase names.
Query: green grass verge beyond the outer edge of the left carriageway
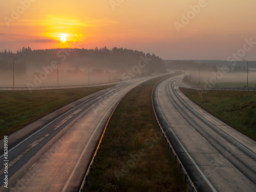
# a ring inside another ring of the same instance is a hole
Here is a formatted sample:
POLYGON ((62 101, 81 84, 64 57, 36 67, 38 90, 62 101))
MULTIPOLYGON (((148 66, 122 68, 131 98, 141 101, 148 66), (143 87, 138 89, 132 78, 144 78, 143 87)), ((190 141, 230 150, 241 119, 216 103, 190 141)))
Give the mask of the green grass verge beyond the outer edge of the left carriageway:
POLYGON ((61 106, 111 86, 0 91, 0 138, 61 106))

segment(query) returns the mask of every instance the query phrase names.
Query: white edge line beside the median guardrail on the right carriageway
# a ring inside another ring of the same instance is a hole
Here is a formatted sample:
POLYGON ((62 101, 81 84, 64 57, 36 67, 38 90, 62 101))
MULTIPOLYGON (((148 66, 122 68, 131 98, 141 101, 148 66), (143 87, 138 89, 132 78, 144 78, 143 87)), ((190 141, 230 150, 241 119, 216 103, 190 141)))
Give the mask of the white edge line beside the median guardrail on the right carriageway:
MULTIPOLYGON (((158 90, 158 86, 157 86, 157 90, 158 90)), ((156 100, 157 100, 157 104, 159 106, 159 102, 158 102, 158 98, 157 98, 157 94, 156 94, 156 100)), ((160 109, 160 108, 159 108, 160 109)), ((160 109, 160 113, 162 115, 162 117, 164 118, 165 122, 167 122, 167 120, 165 119, 161 109, 160 109)), ((189 155, 189 153, 186 151, 185 147, 183 146, 183 144, 181 143, 181 141, 178 139, 178 137, 176 136, 176 134, 174 133, 172 127, 169 127, 170 131, 172 131, 172 133, 174 134, 175 138, 177 139, 177 141, 179 142, 179 144, 181 145, 181 147, 183 148, 184 152, 187 154, 187 156, 189 157, 189 159, 193 162, 193 164, 196 166, 196 168, 198 169, 199 173, 203 176, 204 180, 207 182, 207 184, 209 185, 209 187, 211 188, 212 191, 217 192, 217 190, 214 188, 214 186, 212 186, 212 184, 210 183, 210 181, 206 178, 206 176, 204 175, 204 173, 202 172, 202 170, 199 168, 199 166, 197 165, 197 163, 194 161, 194 159, 189 155)))

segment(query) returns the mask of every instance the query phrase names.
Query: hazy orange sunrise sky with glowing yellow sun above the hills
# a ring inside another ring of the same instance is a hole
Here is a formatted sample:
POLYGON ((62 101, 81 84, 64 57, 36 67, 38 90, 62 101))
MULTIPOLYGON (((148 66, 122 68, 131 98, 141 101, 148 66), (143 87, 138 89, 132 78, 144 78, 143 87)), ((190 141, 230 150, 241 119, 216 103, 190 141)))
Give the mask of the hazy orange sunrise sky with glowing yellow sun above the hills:
POLYGON ((106 46, 163 59, 256 60, 255 0, 0 2, 0 51, 106 46))

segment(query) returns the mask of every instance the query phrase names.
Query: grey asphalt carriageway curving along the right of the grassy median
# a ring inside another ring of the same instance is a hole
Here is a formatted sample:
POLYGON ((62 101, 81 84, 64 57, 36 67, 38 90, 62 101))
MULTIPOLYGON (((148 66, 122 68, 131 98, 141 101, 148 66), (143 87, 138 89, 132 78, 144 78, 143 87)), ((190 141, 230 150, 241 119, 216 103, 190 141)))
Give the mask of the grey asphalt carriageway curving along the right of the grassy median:
POLYGON ((153 93, 158 118, 199 191, 256 191, 256 142, 191 102, 181 76, 153 93))

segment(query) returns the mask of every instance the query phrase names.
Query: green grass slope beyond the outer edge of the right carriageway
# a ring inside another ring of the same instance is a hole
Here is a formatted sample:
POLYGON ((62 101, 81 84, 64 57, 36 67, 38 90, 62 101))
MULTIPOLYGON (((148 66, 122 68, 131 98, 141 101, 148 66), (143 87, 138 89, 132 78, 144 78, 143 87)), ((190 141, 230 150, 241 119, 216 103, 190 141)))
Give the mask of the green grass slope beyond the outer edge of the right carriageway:
POLYGON ((256 140, 255 92, 207 91, 205 94, 199 94, 198 90, 185 88, 180 88, 180 90, 210 114, 256 140))

